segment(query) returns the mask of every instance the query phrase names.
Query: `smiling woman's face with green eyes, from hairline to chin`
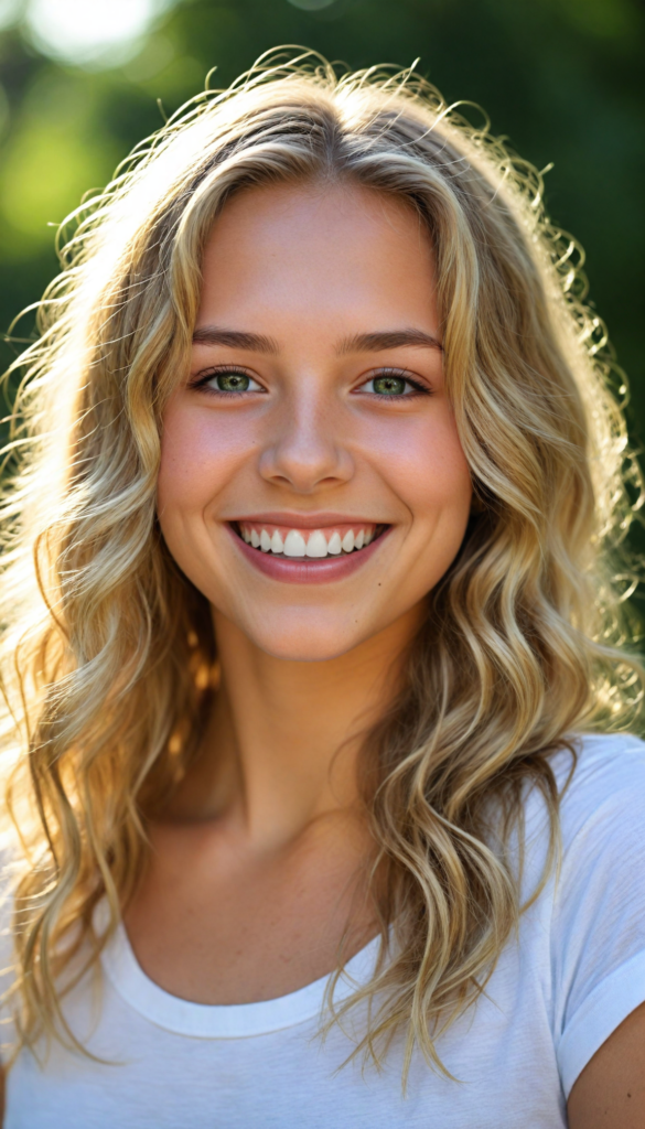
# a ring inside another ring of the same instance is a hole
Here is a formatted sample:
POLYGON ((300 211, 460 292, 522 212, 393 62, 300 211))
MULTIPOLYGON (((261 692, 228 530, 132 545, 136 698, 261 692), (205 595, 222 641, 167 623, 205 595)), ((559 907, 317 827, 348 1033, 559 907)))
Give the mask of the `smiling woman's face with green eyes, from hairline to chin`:
POLYGON ((262 650, 345 654, 413 618, 451 564, 471 480, 442 356, 411 209, 279 185, 223 210, 158 513, 181 569, 262 650))

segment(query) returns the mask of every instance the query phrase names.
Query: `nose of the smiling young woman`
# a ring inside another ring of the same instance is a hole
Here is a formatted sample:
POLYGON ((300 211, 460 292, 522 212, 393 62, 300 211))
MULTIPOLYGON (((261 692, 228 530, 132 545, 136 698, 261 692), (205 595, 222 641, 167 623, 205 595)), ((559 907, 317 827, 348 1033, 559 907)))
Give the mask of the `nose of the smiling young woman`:
POLYGON ((260 473, 267 481, 307 495, 354 475, 337 405, 299 395, 285 403, 269 426, 271 435, 260 456, 260 473))

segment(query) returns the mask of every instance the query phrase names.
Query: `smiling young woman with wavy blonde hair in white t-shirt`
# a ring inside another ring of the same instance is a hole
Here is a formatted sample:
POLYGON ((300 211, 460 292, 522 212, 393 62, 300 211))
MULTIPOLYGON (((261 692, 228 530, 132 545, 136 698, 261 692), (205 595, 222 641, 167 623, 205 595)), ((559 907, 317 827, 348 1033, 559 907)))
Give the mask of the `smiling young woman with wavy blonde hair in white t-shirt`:
POLYGON ((77 218, 6 498, 5 1124, 642 1126, 638 479, 539 176, 300 61, 77 218))

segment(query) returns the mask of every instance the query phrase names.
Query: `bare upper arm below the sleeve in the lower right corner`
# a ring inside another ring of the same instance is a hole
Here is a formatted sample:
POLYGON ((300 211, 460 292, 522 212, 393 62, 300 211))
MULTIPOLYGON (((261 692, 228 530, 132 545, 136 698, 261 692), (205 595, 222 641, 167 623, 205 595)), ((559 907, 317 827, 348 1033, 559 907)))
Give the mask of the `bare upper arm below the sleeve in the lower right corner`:
POLYGON ((645 1004, 587 1062, 569 1094, 569 1129, 645 1126, 645 1004))

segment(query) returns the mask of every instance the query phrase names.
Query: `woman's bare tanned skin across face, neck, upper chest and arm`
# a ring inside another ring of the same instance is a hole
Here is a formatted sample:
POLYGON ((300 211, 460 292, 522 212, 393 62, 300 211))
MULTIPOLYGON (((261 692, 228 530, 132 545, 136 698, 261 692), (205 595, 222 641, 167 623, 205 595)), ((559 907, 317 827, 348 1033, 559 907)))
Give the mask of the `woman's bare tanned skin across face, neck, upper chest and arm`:
MULTIPOLYGON (((341 938, 349 956, 376 931, 360 733, 396 690, 471 505, 442 350, 420 338, 441 338, 434 295, 417 217, 367 190, 249 190, 212 229, 191 371, 164 420, 158 509, 211 605, 221 684, 125 914, 143 970, 177 996, 280 996, 329 972, 341 938), (212 327, 272 349, 216 341, 212 327), (365 335, 384 330, 417 338, 369 348, 365 335), (223 396, 217 366, 259 391, 223 396), (369 380, 384 368, 425 391, 378 396, 369 380), (259 571, 230 527, 270 511, 387 533, 348 576, 287 583, 259 571)), ((643 1045, 639 1008, 576 1082, 573 1129, 645 1123, 643 1045)))

